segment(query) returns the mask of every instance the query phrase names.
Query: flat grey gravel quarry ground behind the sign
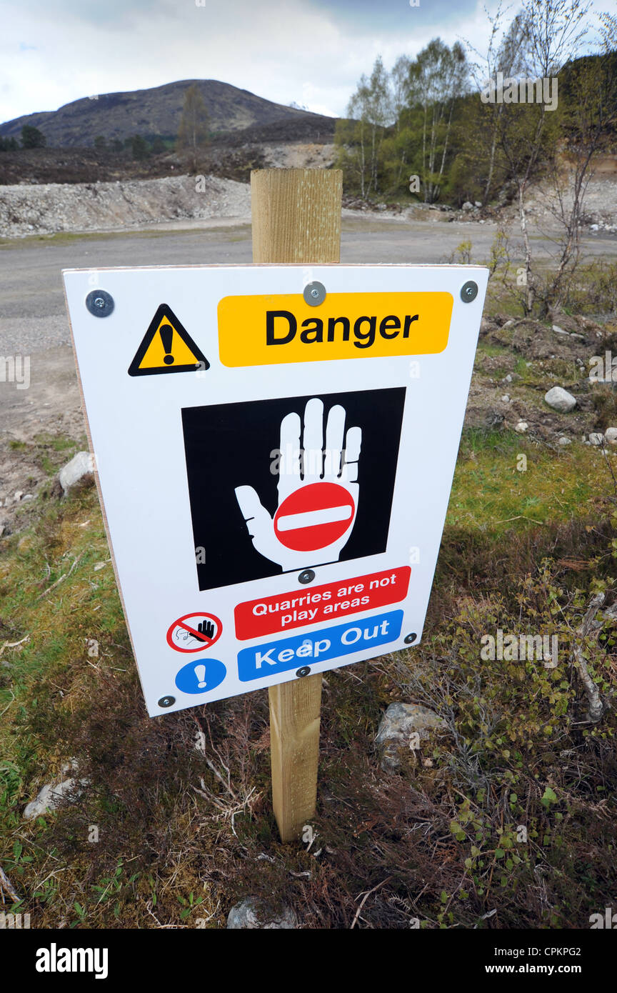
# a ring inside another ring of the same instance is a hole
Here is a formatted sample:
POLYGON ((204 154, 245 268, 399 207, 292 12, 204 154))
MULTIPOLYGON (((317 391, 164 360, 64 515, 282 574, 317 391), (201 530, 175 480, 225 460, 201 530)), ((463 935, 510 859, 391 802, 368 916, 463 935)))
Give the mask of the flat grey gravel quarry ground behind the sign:
MULTIPOLYGON (((438 264, 449 261, 464 241, 471 241, 472 260, 482 263, 489 257, 497 230, 494 223, 345 214, 343 263, 438 264)), ((539 230, 534 245, 539 257, 549 261, 553 245, 539 230)), ((586 235, 583 253, 616 258, 617 239, 607 233, 586 235)), ((251 258, 250 223, 220 217, 166 221, 142 231, 60 233, 0 242, 0 355, 29 355, 31 361, 30 388, 0 382, 0 439, 27 441, 37 432, 56 430, 75 436, 83 430, 62 269, 195 262, 231 265, 248 263, 251 258)))

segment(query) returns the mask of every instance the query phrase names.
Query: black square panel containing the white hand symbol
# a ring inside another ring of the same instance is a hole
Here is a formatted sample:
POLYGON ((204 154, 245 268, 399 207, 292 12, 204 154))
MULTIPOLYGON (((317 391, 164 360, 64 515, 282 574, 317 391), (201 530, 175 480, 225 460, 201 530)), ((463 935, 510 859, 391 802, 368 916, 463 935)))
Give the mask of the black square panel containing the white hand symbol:
POLYGON ((385 552, 405 393, 184 408, 199 589, 385 552))

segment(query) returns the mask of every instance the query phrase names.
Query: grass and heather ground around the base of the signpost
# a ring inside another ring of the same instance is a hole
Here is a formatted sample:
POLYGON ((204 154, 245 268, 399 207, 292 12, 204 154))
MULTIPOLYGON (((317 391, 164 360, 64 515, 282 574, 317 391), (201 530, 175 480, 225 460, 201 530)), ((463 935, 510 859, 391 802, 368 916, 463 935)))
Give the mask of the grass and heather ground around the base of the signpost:
MULTIPOLYGON (((73 443, 35 445, 51 474, 73 443)), ((254 894, 304 926, 348 927, 379 885, 360 926, 484 927, 494 908, 494 927, 588 926, 613 892, 614 717, 580 725, 567 662, 480 663, 478 646, 498 626, 553 630, 555 605, 573 629, 590 589, 612 589, 611 487, 588 447, 464 433, 425 639, 325 674, 308 852, 278 840, 265 692, 147 717, 95 492, 54 497, 50 475, 0 543, 0 863, 15 909, 37 927, 220 927, 254 894), (372 741, 400 699, 448 732, 386 775, 372 741), (24 821, 72 758, 79 795, 24 821)), ((612 656, 594 644, 608 685, 612 656)))

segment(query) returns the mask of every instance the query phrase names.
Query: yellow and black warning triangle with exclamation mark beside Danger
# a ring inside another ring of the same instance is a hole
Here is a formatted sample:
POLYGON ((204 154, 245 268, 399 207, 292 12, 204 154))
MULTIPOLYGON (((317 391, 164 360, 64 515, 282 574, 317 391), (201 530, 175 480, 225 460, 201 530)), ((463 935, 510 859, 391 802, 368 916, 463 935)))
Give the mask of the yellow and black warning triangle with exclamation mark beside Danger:
POLYGON ((129 375, 155 375, 160 372, 194 372, 208 369, 190 335, 167 304, 161 304, 129 365, 129 375))

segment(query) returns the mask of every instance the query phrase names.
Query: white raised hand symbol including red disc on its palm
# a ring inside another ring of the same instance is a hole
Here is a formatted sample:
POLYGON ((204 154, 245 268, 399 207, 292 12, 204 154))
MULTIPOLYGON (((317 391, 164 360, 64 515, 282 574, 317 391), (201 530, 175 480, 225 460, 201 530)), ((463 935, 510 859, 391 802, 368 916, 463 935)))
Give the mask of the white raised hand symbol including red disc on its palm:
POLYGON ((305 409, 302 446, 301 428, 298 414, 288 414, 281 422, 279 508, 274 518, 253 487, 235 490, 254 547, 284 572, 335 562, 358 508, 361 428, 349 428, 345 438, 344 408, 332 407, 324 448, 323 404, 316 397, 305 409))

